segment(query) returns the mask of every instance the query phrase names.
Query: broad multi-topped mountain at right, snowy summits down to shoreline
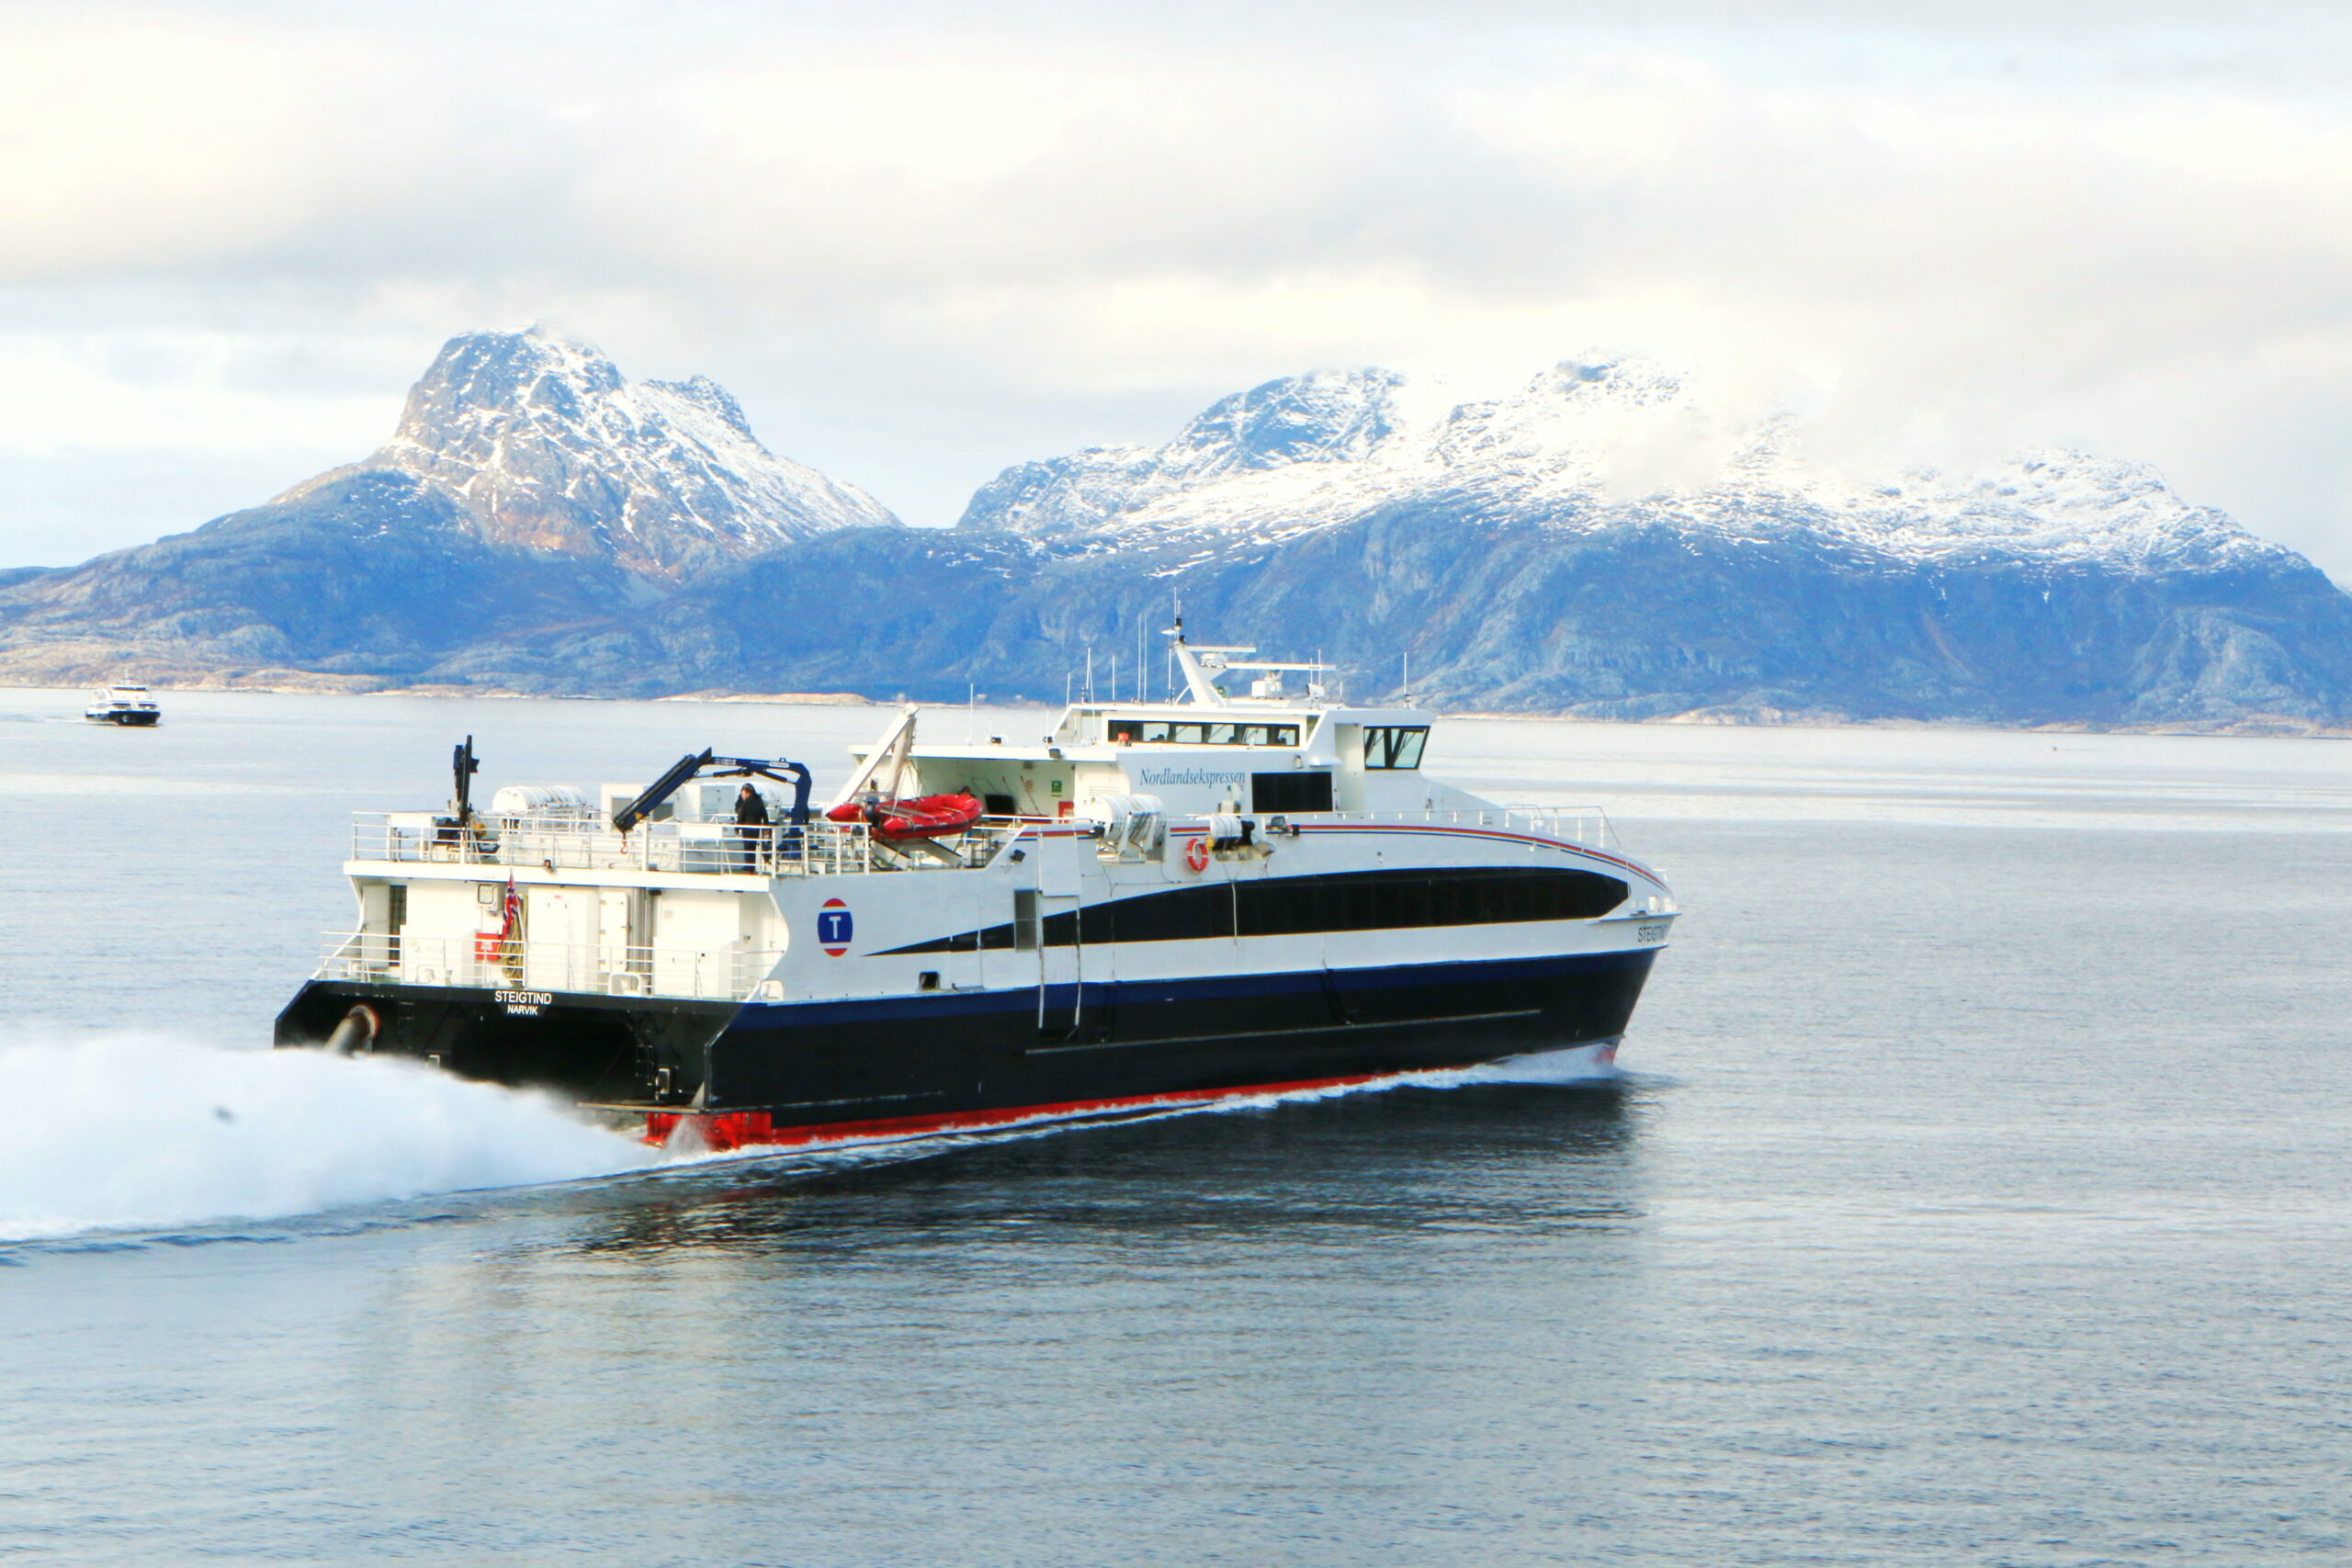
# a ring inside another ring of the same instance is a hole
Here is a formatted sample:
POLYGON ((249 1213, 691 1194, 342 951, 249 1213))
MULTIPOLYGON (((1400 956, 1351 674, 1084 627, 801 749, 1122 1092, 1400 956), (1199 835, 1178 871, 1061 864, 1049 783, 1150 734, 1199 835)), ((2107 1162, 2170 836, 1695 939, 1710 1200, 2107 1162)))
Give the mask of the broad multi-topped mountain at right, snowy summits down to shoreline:
MULTIPOLYGON (((1312 628, 1374 684, 1595 717, 2336 722, 2352 599, 2138 463, 1856 484, 1675 376, 1562 364, 1486 402, 1388 371, 1225 397, 1157 449, 981 487, 962 527, 1120 562, 1195 623, 1312 628)), ((1089 571, 1091 576, 1091 571, 1089 571)), ((1138 607, 1138 614, 1141 607, 1138 607)))

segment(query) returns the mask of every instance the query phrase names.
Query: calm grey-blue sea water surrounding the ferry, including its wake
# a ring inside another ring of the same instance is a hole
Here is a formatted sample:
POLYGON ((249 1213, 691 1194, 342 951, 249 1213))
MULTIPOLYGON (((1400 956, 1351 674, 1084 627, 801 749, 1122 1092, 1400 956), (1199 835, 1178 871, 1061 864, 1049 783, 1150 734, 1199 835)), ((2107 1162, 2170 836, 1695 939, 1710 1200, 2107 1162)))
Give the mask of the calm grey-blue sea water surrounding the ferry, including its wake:
POLYGON ((2352 1559, 2352 748, 1451 722, 1691 910, 1623 1081, 649 1168, 254 1051, 348 811, 882 710, 78 705, 0 691, 9 1561, 2352 1559))

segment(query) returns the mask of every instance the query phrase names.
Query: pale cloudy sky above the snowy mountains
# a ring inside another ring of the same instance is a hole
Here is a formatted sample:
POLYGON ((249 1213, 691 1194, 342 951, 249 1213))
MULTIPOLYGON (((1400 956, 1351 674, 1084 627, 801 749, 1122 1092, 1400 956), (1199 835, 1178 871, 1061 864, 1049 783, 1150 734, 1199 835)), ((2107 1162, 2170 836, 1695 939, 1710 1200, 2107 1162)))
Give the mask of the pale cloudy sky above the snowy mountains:
POLYGON ((2352 7, 0 0, 0 567, 365 456, 435 348, 1007 463, 1578 355, 1823 463, 2154 463, 2352 583, 2352 7))

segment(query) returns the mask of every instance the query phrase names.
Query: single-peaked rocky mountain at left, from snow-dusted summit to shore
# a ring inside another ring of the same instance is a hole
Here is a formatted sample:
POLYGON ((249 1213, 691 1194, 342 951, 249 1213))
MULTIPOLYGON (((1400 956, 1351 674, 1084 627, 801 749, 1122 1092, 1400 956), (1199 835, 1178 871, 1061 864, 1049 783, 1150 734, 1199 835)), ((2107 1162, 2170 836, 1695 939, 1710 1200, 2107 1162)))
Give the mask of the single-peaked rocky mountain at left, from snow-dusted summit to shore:
POLYGON ((191 534, 0 581, 0 677, 499 682, 515 649, 626 642, 729 562, 898 527, 774 456, 703 376, 628 381, 541 329, 475 331, 374 456, 191 534))

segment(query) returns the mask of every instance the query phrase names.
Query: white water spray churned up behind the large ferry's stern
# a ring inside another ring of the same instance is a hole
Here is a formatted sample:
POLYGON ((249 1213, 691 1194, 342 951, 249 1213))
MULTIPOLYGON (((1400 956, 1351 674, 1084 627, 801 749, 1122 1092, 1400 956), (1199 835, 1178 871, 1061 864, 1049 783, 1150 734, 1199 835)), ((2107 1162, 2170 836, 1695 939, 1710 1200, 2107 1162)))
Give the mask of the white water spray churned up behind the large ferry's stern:
POLYGON ((560 1103, 388 1058, 0 1034, 0 1239, 270 1220, 661 1164, 560 1103))

